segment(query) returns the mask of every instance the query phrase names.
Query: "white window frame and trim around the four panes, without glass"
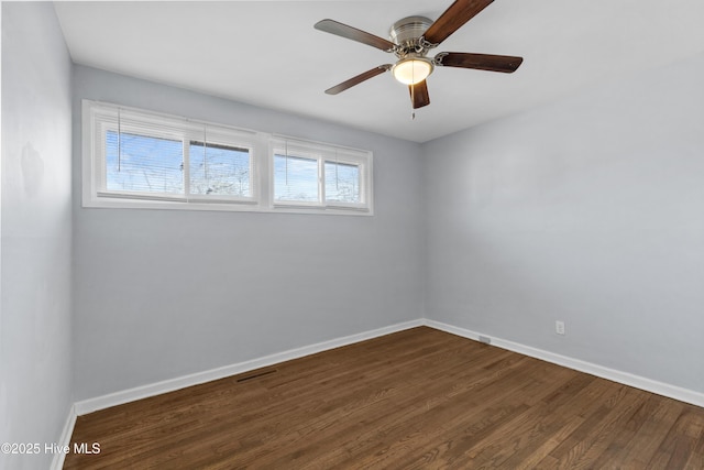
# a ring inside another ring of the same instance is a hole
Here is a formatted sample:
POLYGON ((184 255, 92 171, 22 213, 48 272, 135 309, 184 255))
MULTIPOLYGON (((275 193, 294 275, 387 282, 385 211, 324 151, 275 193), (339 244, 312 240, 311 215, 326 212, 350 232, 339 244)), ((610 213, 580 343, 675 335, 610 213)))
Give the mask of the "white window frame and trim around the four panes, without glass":
POLYGON ((82 100, 82 207, 371 216, 373 215, 372 168, 373 154, 371 151, 274 135, 101 101, 82 100), (123 120, 121 120, 123 117, 129 117, 124 120, 128 122, 127 124, 123 124, 123 120), (121 122, 119 127, 118 120, 121 122), (139 129, 131 129, 129 121, 138 122, 139 129), (154 124, 154 129, 150 128, 150 123, 154 124), (108 129, 120 132, 132 130, 144 135, 182 140, 185 163, 183 195, 108 192, 105 171, 108 129), (188 194, 190 142, 202 142, 204 135, 207 136, 208 143, 249 150, 251 196, 188 194), (317 203, 274 199, 274 155, 282 147, 282 143, 284 149, 287 144, 296 150, 305 149, 307 154, 315 155, 319 161, 319 171, 322 172, 319 175, 321 199, 317 203), (330 155, 334 155, 334 157, 330 155), (360 168, 360 204, 324 201, 326 161, 352 164, 360 168))

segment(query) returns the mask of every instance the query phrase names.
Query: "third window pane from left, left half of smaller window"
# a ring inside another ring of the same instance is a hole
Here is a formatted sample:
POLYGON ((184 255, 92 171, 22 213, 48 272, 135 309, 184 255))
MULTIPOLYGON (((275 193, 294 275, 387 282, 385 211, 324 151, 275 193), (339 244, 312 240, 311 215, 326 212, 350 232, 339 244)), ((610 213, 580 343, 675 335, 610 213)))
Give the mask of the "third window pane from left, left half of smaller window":
POLYGON ((318 161, 274 155, 274 199, 318 203, 318 161))

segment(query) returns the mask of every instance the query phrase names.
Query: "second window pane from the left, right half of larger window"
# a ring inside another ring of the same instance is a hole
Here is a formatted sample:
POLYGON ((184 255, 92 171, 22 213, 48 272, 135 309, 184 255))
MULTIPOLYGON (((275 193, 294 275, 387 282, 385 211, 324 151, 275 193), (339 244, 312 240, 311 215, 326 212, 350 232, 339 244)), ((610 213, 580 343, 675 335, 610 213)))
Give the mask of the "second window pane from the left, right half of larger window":
POLYGON ((190 142, 190 194, 251 197, 250 151, 190 142))

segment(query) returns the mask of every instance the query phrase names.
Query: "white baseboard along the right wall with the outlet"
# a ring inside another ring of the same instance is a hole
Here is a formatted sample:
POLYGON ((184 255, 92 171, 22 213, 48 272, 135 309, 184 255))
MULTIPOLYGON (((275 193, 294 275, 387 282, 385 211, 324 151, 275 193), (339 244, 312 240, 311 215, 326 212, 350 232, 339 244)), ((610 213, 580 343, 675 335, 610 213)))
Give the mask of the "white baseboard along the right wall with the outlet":
POLYGON ((425 320, 428 327, 447 331, 463 338, 480 340, 480 335, 484 338, 490 338, 492 345, 502 349, 518 352, 531 358, 541 359, 543 361, 552 362, 558 365, 563 365, 569 369, 574 369, 580 372, 586 372, 592 375, 607 379, 614 382, 623 383, 624 385, 634 386, 636 389, 645 390, 646 392, 656 393, 662 396, 669 396, 670 398, 679 400, 681 402, 691 403, 692 405, 704 407, 704 393, 694 392, 692 390, 683 389, 668 383, 658 382, 651 379, 647 379, 640 375, 635 375, 628 372, 622 372, 614 369, 605 368, 603 365, 594 364, 591 362, 582 361, 579 359, 569 358, 566 356, 556 354, 554 352, 544 351, 542 349, 532 348, 530 346, 520 345, 518 342, 508 341, 501 338, 494 338, 488 335, 479 334, 464 328, 454 327, 436 320, 425 320))

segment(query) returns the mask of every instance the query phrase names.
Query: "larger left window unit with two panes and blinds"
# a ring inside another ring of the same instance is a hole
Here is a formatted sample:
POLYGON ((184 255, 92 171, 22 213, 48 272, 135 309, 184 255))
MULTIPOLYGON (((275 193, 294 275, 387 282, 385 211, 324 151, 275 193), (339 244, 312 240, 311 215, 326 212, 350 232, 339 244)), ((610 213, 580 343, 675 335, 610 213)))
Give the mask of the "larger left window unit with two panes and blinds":
POLYGON ((91 196, 255 203, 255 133, 89 103, 91 196))

